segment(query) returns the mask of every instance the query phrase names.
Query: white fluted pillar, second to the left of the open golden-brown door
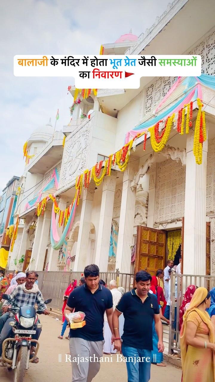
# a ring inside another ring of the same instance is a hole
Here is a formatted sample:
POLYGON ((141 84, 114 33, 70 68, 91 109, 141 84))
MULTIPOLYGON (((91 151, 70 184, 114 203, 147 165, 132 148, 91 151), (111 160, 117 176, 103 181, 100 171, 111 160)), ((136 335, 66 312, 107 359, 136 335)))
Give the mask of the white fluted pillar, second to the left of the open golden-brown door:
POLYGON ((100 272, 107 272, 108 270, 108 255, 110 248, 115 188, 116 176, 105 176, 101 199, 98 241, 95 258, 95 264, 98 265, 100 272))

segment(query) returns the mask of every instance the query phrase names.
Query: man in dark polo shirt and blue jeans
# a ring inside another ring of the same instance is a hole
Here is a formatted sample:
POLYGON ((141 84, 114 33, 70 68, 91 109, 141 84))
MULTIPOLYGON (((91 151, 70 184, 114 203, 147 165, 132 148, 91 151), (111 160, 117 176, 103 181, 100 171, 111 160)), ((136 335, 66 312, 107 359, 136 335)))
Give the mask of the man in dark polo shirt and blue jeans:
POLYGON ((157 297, 149 293, 151 275, 140 270, 135 275, 136 288, 125 293, 116 306, 113 315, 114 348, 126 360, 128 382, 150 380, 152 324, 158 335, 158 351, 163 353, 163 328, 157 297), (119 316, 124 315, 124 333, 119 337, 119 316), (130 358, 129 358, 130 357, 130 358))

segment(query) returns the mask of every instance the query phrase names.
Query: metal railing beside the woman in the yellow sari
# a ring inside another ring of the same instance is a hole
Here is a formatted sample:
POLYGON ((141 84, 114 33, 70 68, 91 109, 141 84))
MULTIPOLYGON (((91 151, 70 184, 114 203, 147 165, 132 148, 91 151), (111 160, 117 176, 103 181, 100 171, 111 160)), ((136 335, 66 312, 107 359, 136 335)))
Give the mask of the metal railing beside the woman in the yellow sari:
POLYGON ((204 286, 209 291, 215 286, 215 276, 171 273, 169 354, 180 353, 179 309, 189 285, 204 286))

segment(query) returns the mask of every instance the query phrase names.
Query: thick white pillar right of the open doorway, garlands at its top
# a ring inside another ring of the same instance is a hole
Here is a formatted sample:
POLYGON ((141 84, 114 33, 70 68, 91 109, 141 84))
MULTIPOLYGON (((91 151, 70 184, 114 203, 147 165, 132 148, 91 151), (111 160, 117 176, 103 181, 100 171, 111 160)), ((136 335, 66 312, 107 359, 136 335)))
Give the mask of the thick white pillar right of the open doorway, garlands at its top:
POLYGON ((197 165, 193 136, 190 131, 186 148, 183 273, 205 275, 207 141, 203 144, 202 164, 197 165))

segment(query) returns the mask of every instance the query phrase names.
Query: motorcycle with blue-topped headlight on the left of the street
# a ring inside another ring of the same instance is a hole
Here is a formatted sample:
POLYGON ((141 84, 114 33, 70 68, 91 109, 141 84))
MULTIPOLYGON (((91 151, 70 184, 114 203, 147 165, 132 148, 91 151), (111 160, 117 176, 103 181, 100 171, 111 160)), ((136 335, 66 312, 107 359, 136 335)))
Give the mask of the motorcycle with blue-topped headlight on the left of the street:
MULTIPOLYGON (((10 301, 10 296, 7 294, 3 294, 2 298, 10 301)), ((49 304, 51 301, 52 299, 47 299, 44 303, 49 304)), ((15 320, 10 322, 13 330, 11 338, 6 338, 2 344, 3 366, 7 366, 8 371, 14 370, 13 382, 23 382, 29 363, 36 359, 39 350, 39 342, 33 339, 32 335, 36 334, 34 330, 36 324, 37 328, 42 327, 37 315, 43 312, 28 305, 9 308, 9 311, 13 312, 15 320), (31 342, 37 345, 33 357, 30 356, 31 342)))

